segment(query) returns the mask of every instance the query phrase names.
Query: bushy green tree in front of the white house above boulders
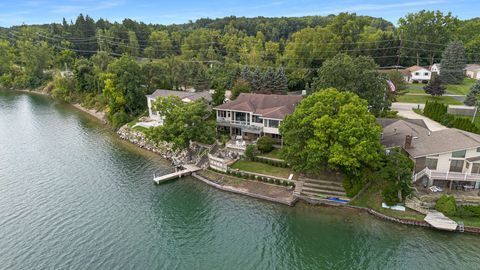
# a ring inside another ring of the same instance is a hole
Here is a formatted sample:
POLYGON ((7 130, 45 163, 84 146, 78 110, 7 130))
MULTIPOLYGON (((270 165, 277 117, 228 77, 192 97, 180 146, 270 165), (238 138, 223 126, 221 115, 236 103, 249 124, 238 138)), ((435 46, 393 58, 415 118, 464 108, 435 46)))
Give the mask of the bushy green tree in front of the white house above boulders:
POLYGON ((215 121, 210 119, 206 100, 185 103, 176 96, 159 97, 153 109, 164 121, 162 126, 149 132, 150 139, 170 142, 175 149, 186 149, 191 141, 213 143, 215 140, 215 121))

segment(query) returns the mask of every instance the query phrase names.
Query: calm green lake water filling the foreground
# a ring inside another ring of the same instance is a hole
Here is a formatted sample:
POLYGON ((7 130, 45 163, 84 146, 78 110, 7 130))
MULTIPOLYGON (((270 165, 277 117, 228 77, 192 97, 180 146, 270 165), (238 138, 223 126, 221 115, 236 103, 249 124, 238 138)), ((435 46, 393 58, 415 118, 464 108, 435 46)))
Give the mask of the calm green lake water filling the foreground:
POLYGON ((480 237, 192 178, 68 105, 0 91, 0 269, 479 269, 480 237))

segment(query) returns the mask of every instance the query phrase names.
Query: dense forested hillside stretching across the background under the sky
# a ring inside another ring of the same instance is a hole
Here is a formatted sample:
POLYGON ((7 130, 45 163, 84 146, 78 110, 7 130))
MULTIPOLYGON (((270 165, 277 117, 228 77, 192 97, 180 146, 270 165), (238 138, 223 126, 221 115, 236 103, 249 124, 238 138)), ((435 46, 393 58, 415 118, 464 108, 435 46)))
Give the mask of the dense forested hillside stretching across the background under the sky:
POLYGON ((258 88, 275 80, 270 92, 300 90, 339 53, 370 57, 378 67, 429 65, 453 40, 463 42, 469 62, 480 61, 480 19, 441 12, 407 14, 398 27, 348 13, 167 26, 80 15, 74 22, 0 29, 0 84, 48 86, 57 98, 120 113, 121 123, 142 112, 143 95, 156 88, 232 89, 251 73, 255 81, 247 83, 258 88))

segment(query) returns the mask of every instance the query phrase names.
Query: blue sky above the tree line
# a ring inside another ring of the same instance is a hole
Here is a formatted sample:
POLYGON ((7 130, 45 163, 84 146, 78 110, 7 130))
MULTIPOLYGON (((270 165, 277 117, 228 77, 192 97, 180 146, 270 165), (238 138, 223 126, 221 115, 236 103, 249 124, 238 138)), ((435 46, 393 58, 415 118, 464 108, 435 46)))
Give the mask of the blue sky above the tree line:
POLYGON ((328 15, 342 11, 383 17, 393 23, 421 9, 451 11, 459 18, 480 16, 479 0, 0 0, 0 26, 61 22, 79 13, 94 19, 145 23, 184 23, 199 18, 235 16, 328 15))

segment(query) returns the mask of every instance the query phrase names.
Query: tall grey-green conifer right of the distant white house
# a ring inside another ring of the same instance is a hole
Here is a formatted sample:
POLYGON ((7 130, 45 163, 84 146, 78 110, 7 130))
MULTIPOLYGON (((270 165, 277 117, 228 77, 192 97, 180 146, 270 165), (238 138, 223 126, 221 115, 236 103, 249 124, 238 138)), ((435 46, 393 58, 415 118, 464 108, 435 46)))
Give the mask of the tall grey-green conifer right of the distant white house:
POLYGON ((461 83, 465 77, 464 68, 466 64, 463 43, 461 41, 450 42, 442 54, 442 81, 445 83, 461 83))

